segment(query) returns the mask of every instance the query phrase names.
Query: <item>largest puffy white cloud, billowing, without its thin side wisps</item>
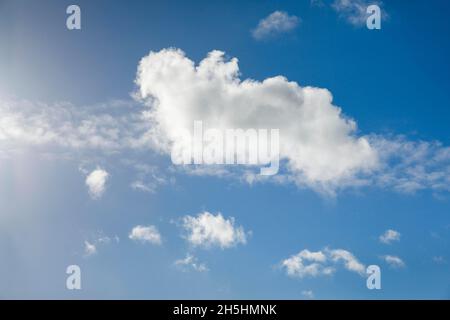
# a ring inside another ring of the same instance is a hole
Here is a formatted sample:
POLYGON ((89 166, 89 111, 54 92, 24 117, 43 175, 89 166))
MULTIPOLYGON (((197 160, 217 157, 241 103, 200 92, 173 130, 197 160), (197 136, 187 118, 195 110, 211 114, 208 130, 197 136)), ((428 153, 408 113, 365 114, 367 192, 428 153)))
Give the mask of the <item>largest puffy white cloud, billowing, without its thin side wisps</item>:
POLYGON ((151 103, 154 145, 167 154, 183 143, 180 130, 192 132, 194 121, 202 120, 218 129, 279 128, 289 179, 322 191, 359 183, 356 176, 378 164, 368 139, 356 136, 356 123, 332 104, 328 90, 282 76, 241 80, 237 59, 226 61, 221 51, 198 66, 181 50, 151 52, 139 64, 136 83, 151 103))

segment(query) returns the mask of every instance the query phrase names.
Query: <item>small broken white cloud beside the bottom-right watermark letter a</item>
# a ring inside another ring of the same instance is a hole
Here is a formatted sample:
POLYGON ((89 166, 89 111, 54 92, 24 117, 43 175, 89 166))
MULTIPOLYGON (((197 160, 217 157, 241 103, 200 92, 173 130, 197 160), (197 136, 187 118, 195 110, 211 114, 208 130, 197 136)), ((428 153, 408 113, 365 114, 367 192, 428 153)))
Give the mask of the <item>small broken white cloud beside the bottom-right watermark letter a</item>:
POLYGON ((311 252, 307 249, 281 262, 281 267, 290 277, 304 278, 320 275, 332 275, 338 263, 343 262, 345 269, 365 274, 365 266, 349 251, 343 249, 311 252))

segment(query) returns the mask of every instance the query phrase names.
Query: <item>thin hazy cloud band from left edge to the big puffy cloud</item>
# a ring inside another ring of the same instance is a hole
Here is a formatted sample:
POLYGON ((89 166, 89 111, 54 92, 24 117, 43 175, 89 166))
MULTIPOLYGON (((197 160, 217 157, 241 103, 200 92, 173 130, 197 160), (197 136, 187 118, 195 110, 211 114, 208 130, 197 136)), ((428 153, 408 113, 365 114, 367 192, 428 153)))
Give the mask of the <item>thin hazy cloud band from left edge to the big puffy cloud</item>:
POLYGON ((76 106, 0 100, 0 148, 45 147, 46 151, 95 150, 105 153, 137 148, 149 129, 142 109, 131 100, 76 106))

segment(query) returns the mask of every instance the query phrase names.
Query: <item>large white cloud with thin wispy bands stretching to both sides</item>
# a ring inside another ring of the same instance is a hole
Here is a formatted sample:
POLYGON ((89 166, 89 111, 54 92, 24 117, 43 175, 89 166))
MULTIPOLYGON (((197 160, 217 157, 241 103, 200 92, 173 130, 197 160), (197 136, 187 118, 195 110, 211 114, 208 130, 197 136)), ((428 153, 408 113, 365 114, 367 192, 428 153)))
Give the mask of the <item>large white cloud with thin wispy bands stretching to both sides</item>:
MULTIPOLYGON (((250 166, 205 165, 175 166, 172 172, 294 183, 331 196, 362 186, 403 193, 450 191, 449 147, 402 136, 357 135, 356 122, 332 104, 328 90, 301 87, 282 76, 255 81, 241 80, 239 74, 237 59, 225 60, 220 51, 195 65, 182 51, 165 49, 139 64, 139 103, 0 100, 0 159, 31 149, 36 156, 82 161, 126 155, 136 163, 141 150, 169 155, 180 142, 178 129, 192 131, 193 121, 203 120, 205 129, 280 129, 280 172, 262 177, 250 166)), ((130 181, 135 190, 154 192, 171 183, 161 170, 137 172, 130 181)))

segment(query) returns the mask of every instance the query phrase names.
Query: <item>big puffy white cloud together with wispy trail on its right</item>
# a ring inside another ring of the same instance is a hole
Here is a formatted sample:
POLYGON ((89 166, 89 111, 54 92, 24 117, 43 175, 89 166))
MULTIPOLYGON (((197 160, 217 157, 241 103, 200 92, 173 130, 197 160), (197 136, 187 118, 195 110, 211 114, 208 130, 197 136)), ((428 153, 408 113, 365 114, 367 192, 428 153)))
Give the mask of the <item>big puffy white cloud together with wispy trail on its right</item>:
POLYGON ((146 141, 162 153, 182 144, 180 130, 280 129, 281 173, 261 177, 248 168, 189 167, 195 174, 272 179, 334 195, 339 189, 376 185, 400 192, 450 191, 450 148, 404 137, 358 136, 356 122, 332 103, 326 89, 301 87, 282 76, 239 78, 238 60, 212 51, 198 65, 178 49, 150 52, 138 67, 137 95, 150 108, 146 141), (182 88, 182 89, 180 89, 182 88))

